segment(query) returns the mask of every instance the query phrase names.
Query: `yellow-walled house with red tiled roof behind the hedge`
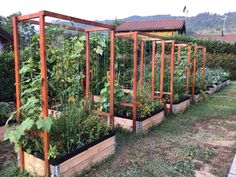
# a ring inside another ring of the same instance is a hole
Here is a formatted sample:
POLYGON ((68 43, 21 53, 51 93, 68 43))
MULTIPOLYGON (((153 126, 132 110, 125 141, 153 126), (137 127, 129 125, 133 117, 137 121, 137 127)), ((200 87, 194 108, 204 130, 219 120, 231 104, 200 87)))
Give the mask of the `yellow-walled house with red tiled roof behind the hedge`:
POLYGON ((124 22, 116 28, 117 32, 141 31, 159 36, 186 34, 185 20, 147 20, 124 22))

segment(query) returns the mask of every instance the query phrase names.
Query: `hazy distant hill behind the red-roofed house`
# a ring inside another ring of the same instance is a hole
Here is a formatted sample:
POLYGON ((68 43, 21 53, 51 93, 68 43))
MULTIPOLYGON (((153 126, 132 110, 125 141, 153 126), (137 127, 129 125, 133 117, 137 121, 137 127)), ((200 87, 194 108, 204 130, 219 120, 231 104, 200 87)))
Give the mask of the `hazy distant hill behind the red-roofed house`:
MULTIPOLYGON (((188 34, 220 34, 224 16, 227 15, 225 23, 225 33, 236 33, 236 12, 229 12, 224 15, 200 13, 197 16, 186 18, 186 28, 188 34)), ((160 20, 160 19, 184 19, 184 16, 171 15, 153 15, 153 16, 130 16, 124 19, 119 19, 121 22, 125 21, 141 21, 141 20, 160 20)), ((107 24, 112 24, 114 20, 102 21, 107 24)))

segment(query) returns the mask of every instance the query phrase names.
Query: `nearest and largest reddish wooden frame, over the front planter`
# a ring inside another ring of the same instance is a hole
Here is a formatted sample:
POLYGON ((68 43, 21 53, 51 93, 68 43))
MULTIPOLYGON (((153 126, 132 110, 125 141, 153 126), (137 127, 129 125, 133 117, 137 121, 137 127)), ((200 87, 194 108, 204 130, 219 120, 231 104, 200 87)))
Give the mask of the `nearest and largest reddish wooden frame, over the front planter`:
MULTIPOLYGON (((65 29, 78 30, 84 32, 86 35, 86 109, 88 110, 89 103, 89 88, 90 88, 90 46, 89 46, 89 34, 90 32, 108 30, 110 31, 110 110, 109 113, 96 112, 100 115, 105 115, 110 117, 110 125, 113 126, 114 123, 114 79, 115 79, 115 67, 114 67, 114 53, 115 53, 115 26, 107 25, 99 22, 84 20, 76 17, 71 17, 67 15, 62 15, 59 13, 40 11, 37 13, 14 16, 12 18, 13 22, 13 38, 14 38, 14 59, 15 59, 15 79, 16 79, 16 109, 19 110, 21 107, 21 89, 20 89, 20 54, 19 54, 19 34, 18 34, 18 23, 19 22, 30 22, 32 24, 39 25, 39 40, 40 40, 40 66, 41 66, 41 77, 42 77, 42 117, 46 118, 48 116, 48 81, 47 81, 47 64, 46 64, 46 33, 45 26, 53 25, 51 23, 45 22, 45 17, 57 18, 60 20, 72 21, 75 23, 81 23, 85 25, 95 26, 95 28, 77 28, 63 25, 65 29), (38 19, 38 21, 33 20, 38 19)), ((17 122, 21 122, 21 113, 17 112, 17 122)), ((45 174, 47 177, 50 176, 50 165, 48 161, 48 151, 49 151, 49 133, 44 132, 34 132, 33 135, 43 138, 44 140, 44 161, 45 161, 45 174)), ((19 152, 19 166, 21 170, 24 170, 24 151, 22 146, 19 152)))

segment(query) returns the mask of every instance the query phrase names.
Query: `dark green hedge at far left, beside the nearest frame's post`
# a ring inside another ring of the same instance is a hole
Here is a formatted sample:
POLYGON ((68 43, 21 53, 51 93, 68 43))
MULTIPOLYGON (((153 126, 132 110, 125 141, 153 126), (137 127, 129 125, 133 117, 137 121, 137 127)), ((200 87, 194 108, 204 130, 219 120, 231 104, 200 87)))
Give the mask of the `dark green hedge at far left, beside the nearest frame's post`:
POLYGON ((14 59, 11 49, 0 53, 0 102, 15 100, 14 59))

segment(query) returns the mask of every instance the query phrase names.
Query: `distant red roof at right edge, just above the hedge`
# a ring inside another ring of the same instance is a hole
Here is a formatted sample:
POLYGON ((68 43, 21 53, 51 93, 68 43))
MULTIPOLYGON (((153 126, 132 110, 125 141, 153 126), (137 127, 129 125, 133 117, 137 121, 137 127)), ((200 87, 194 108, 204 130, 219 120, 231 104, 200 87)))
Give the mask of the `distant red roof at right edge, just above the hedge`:
POLYGON ((210 34, 210 35, 195 35, 197 38, 201 39, 215 39, 215 40, 221 40, 226 42, 236 42, 236 34, 210 34))

